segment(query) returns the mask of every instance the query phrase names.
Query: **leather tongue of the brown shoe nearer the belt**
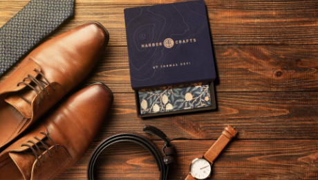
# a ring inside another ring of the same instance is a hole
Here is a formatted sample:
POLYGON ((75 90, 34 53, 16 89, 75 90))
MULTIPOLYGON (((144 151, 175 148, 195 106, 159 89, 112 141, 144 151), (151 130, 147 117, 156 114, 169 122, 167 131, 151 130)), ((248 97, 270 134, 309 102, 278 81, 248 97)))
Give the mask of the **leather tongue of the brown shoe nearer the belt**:
POLYGON ((24 179, 30 179, 32 166, 36 159, 35 156, 33 154, 26 154, 25 152, 9 152, 9 156, 19 168, 24 179))

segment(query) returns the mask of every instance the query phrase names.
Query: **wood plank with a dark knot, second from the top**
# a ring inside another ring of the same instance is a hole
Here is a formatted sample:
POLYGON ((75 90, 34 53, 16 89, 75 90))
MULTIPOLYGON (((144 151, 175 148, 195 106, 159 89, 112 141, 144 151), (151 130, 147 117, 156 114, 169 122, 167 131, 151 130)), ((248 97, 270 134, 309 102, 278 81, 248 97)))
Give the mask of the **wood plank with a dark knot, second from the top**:
MULTIPOLYGON (((318 45, 214 46, 216 91, 316 91, 318 45)), ((88 82, 133 93, 127 47, 109 46, 88 82)))

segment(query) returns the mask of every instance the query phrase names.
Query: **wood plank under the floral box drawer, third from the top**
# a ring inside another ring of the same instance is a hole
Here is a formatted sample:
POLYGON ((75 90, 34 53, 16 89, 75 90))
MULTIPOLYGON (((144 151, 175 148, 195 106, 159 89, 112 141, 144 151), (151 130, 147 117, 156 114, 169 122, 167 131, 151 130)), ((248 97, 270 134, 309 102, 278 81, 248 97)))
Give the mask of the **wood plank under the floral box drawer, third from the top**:
POLYGON ((154 125, 170 138, 216 139, 230 124, 239 139, 318 139, 318 92, 218 93, 218 110, 176 116, 137 118, 131 93, 115 93, 101 141, 116 132, 142 132, 154 125))

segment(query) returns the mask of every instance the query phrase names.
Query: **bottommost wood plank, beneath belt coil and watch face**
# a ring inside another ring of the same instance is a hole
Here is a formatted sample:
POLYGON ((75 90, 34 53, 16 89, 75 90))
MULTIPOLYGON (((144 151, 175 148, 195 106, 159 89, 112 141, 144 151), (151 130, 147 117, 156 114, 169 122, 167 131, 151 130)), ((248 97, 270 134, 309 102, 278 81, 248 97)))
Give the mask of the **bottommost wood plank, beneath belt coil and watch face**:
MULTIPOLYGON (((155 142, 162 147, 162 141, 155 142)), ((177 159, 169 179, 185 179, 189 164, 214 141, 174 141, 177 159)), ((97 143, 57 179, 86 179, 86 167, 97 143)), ((133 144, 113 145, 100 156, 100 179, 158 179, 156 163, 147 150, 133 144)), ((242 141, 234 139, 214 161, 211 179, 318 179, 318 141, 242 141)))

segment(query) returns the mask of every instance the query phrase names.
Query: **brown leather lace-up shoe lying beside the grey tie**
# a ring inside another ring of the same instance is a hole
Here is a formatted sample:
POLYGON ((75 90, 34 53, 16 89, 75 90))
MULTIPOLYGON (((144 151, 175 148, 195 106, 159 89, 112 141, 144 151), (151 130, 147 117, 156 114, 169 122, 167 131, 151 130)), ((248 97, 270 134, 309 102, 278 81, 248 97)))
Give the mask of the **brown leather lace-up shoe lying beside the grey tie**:
POLYGON ((85 24, 41 44, 21 61, 0 84, 0 152, 85 78, 108 40, 100 24, 85 24))

